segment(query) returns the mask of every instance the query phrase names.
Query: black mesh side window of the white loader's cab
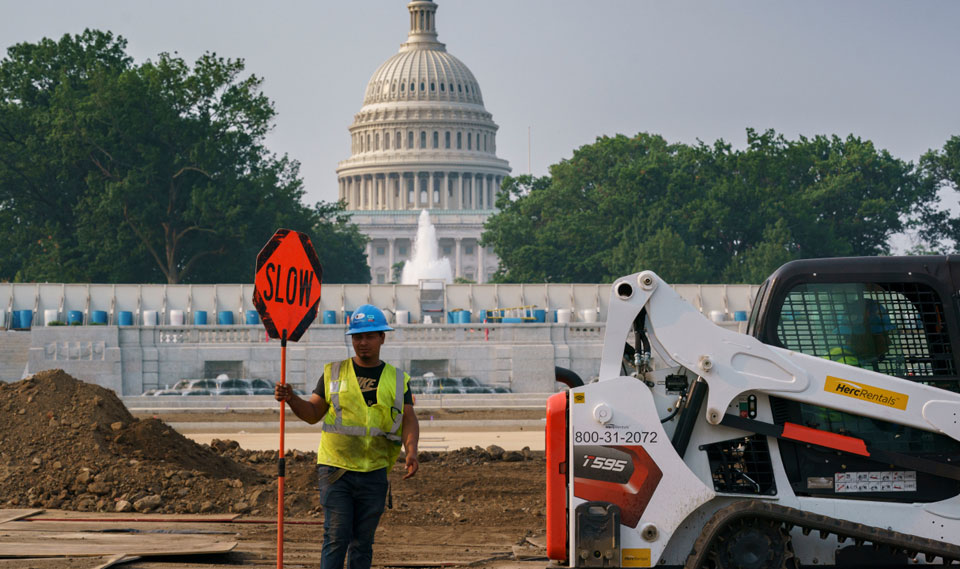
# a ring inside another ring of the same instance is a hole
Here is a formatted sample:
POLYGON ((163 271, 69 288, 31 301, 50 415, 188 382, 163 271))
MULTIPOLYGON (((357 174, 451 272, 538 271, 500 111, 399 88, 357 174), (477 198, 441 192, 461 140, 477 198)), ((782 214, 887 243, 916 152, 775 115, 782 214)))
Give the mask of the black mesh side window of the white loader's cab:
POLYGON ((937 293, 923 283, 804 284, 784 299, 783 347, 958 391, 937 293))

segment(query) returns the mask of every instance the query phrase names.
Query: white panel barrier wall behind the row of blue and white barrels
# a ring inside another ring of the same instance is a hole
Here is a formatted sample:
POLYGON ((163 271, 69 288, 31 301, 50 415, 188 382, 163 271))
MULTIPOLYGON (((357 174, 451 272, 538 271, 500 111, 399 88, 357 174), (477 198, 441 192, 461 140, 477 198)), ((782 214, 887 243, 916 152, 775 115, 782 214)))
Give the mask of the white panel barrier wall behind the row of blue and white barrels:
MULTIPOLYGON (((704 314, 719 311, 724 319, 733 320, 737 311, 749 312, 756 296, 756 285, 673 285, 673 288, 704 314)), ((536 306, 548 311, 553 320, 558 309, 570 310, 573 322, 589 321, 586 312, 594 312, 595 320, 607 316, 610 285, 606 284, 453 284, 444 288, 444 304, 449 310, 469 310, 475 316, 483 310, 536 306)), ((108 314, 108 324, 117 323, 120 311, 130 311, 134 324, 143 324, 143 313, 156 311, 160 324, 171 324, 170 312, 183 311, 184 322, 192 323, 196 311, 207 312, 208 322, 216 323, 217 313, 234 313, 236 323, 244 322, 247 310, 253 310, 252 284, 216 285, 107 285, 107 284, 34 284, 0 283, 2 327, 12 325, 14 310, 31 310, 33 326, 43 325, 46 310, 56 311, 56 320, 66 322, 72 310, 90 321, 95 310, 108 314)), ((419 290, 416 285, 323 285, 320 314, 325 310, 337 313, 362 304, 374 304, 392 315, 406 310, 412 321, 421 320, 419 290)), ((320 318, 318 318, 318 323, 320 318)))

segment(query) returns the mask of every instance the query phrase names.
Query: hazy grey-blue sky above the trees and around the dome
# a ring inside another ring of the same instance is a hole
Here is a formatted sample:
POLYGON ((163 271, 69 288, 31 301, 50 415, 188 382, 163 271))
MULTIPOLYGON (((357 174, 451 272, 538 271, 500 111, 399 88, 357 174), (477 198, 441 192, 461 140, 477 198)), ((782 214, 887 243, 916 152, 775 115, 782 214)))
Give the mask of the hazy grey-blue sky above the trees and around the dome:
MULTIPOLYGON (((473 71, 513 173, 597 136, 647 131, 742 147, 745 128, 853 133, 915 161, 960 134, 960 2, 439 0, 437 29, 473 71)), ((2 0, 0 46, 110 30, 162 51, 243 58, 278 118, 270 148, 307 197, 337 197, 347 127, 405 41, 405 0, 2 0)))

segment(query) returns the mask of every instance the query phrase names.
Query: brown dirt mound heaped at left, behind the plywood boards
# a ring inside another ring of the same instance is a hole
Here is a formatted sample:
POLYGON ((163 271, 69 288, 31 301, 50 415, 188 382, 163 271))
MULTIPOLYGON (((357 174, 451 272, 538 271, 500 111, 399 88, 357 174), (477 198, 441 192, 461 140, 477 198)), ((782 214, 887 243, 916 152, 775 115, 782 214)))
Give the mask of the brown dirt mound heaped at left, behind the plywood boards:
POLYGON ((0 384, 0 503, 81 511, 228 511, 267 478, 113 391, 50 370, 0 384))

